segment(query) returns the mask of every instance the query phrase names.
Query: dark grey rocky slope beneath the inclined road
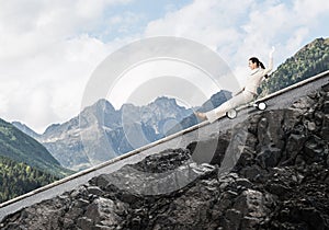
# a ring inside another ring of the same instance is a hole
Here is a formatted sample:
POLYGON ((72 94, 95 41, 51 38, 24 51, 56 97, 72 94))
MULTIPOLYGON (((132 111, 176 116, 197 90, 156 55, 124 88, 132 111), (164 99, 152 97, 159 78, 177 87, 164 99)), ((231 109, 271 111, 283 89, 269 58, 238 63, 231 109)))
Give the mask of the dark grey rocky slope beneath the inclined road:
POLYGON ((329 229, 329 84, 10 215, 1 229, 329 229), (241 141, 243 139, 243 141, 241 141), (217 141, 212 164, 195 145, 217 141))

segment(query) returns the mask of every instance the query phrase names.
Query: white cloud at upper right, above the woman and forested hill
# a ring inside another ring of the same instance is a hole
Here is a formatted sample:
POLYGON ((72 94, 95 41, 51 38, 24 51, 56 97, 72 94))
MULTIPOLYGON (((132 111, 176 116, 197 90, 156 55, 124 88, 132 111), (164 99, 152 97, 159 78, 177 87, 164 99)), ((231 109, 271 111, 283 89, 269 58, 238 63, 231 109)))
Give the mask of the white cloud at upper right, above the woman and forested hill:
POLYGON ((249 71, 249 57, 257 56, 266 62, 268 51, 274 45, 277 66, 316 38, 313 32, 326 26, 320 20, 324 16, 328 20, 328 10, 326 0, 195 0, 150 22, 145 34, 182 36, 216 47, 237 78, 243 81, 249 71))

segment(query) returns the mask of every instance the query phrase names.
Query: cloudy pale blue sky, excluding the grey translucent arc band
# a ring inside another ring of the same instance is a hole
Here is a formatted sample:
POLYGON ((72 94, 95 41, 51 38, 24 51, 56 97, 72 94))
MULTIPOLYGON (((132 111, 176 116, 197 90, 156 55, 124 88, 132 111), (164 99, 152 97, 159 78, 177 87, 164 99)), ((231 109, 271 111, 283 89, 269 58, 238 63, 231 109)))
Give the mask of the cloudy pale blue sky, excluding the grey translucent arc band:
MULTIPOLYGON (((313 39, 328 37, 328 21, 327 0, 0 0, 0 117, 37 133, 69 120, 109 56, 158 36, 217 54, 239 82, 234 91, 249 74, 249 57, 266 64, 275 46, 276 68, 313 39)), ((157 61, 135 65, 115 80, 106 94, 115 108, 162 94, 195 106, 218 91, 195 65, 157 61)))

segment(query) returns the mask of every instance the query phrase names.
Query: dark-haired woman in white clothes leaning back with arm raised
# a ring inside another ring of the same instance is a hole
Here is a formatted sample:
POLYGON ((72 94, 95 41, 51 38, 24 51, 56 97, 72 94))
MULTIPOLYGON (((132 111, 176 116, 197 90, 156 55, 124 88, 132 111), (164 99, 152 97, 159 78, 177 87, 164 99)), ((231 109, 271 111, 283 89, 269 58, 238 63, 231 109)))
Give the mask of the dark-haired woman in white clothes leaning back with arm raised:
POLYGON ((213 123, 225 115, 229 110, 251 102, 257 96, 257 89, 259 88, 261 81, 263 80, 263 78, 268 77, 268 73, 273 68, 273 53, 274 47, 272 47, 272 50, 269 55, 270 61, 268 69, 265 69, 264 65, 258 58, 252 57, 249 59, 249 68, 251 69, 251 74, 247 79, 246 87, 241 91, 236 93, 234 97, 207 113, 196 112, 195 115, 202 119, 208 119, 209 123, 213 123))

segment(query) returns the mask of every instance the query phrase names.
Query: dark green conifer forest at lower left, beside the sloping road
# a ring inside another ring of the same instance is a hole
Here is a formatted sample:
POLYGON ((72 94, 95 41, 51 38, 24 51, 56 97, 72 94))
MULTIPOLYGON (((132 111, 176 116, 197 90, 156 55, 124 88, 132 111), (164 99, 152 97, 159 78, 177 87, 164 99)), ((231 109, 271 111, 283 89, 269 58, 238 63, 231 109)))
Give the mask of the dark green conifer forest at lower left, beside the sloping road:
POLYGON ((0 156, 0 203, 57 180, 49 173, 0 156))

